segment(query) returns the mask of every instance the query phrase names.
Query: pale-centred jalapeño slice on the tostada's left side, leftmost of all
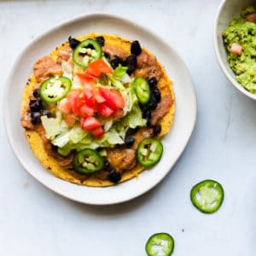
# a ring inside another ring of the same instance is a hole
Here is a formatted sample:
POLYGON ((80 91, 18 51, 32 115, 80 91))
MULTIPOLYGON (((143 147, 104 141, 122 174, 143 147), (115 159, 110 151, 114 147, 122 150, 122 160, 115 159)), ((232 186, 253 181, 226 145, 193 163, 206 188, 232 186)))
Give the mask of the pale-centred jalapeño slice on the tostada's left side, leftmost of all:
POLYGON ((45 80, 39 89, 43 102, 54 104, 60 102, 71 89, 72 82, 66 77, 51 77, 45 80))

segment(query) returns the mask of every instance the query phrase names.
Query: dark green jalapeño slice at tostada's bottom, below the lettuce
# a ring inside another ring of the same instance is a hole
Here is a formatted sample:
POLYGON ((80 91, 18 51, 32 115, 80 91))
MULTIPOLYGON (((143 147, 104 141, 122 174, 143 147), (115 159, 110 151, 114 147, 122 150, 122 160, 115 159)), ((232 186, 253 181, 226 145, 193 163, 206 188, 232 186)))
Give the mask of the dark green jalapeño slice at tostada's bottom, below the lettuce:
POLYGON ((79 151, 73 158, 74 170, 83 174, 101 171, 103 166, 102 156, 91 148, 79 151))

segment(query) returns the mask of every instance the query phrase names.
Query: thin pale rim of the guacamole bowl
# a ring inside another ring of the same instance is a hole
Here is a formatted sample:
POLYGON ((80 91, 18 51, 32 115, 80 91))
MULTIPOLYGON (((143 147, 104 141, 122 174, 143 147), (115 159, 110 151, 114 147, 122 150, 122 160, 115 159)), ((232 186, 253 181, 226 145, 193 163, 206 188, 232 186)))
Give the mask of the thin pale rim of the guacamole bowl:
POLYGON ((227 3, 227 0, 223 0, 219 4, 217 13, 216 13, 216 15, 214 17, 214 20, 213 20, 213 48, 214 48, 214 51, 215 51, 215 55, 217 56, 218 66, 221 68, 221 70, 224 73, 224 75, 226 76, 226 78, 230 81, 230 84, 235 86, 236 90, 239 90, 243 95, 245 95, 245 96, 253 99, 254 101, 256 101, 256 95, 254 95, 253 93, 251 93, 248 90, 246 90, 245 88, 243 88, 242 85, 239 84, 236 81, 236 79, 234 79, 231 76, 227 67, 224 66, 224 60, 223 60, 223 58, 222 58, 222 56, 220 55, 220 52, 219 52, 219 48, 218 48, 218 21, 219 21, 220 14, 221 14, 222 9, 224 8, 225 3, 227 3))

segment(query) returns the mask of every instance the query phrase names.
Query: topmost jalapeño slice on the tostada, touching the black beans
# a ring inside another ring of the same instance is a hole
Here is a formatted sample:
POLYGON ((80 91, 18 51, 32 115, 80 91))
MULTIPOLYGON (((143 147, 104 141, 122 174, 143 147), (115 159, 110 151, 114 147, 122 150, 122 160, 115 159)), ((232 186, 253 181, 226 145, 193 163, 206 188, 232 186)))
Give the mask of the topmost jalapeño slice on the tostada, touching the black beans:
POLYGON ((93 39, 85 39, 73 50, 73 61, 80 67, 87 67, 91 61, 102 57, 102 46, 93 39))

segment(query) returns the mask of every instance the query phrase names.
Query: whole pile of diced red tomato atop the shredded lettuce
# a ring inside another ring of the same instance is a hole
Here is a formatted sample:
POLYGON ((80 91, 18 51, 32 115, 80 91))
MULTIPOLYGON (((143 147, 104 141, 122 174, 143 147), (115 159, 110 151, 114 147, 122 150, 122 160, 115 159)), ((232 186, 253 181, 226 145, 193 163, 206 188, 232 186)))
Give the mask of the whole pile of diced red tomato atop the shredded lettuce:
POLYGON ((104 134, 102 125, 96 116, 111 117, 120 108, 125 107, 125 100, 118 90, 96 88, 92 77, 99 77, 101 73, 113 73, 108 64, 100 60, 91 62, 85 73, 77 73, 84 89, 70 90, 67 97, 59 103, 67 125, 73 126, 79 117, 80 126, 85 131, 90 131, 95 137, 101 137, 104 134))

